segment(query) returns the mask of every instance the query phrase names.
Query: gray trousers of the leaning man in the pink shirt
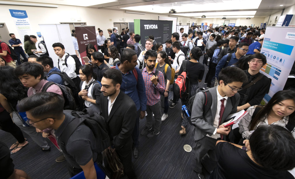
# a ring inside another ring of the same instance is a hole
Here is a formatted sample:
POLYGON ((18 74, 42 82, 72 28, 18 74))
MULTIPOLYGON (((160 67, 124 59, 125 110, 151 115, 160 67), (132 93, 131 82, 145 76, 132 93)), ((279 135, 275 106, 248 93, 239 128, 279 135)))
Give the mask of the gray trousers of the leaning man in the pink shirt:
POLYGON ((30 127, 24 127, 21 119, 19 118, 18 114, 16 112, 13 112, 13 121, 14 123, 27 135, 29 135, 33 141, 42 147, 43 149, 49 149, 49 145, 44 137, 42 137, 42 134, 39 132, 36 132, 36 128, 33 126, 30 127))

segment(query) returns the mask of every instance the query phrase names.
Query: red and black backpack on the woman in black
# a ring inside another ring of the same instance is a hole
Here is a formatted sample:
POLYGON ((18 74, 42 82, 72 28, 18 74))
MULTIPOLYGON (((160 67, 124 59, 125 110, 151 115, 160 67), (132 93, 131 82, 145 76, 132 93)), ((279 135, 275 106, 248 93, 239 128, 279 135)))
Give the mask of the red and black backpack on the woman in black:
POLYGON ((174 84, 174 94, 181 99, 186 99, 189 97, 190 92, 190 82, 188 77, 188 72, 186 71, 187 60, 183 60, 181 67, 183 72, 178 75, 174 84))

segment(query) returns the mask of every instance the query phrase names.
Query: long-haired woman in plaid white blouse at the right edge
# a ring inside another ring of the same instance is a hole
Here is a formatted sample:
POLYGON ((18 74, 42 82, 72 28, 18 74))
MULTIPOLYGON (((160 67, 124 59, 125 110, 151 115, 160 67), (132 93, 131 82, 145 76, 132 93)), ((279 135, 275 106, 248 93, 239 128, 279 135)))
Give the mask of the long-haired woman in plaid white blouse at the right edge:
POLYGON ((295 137, 295 91, 278 91, 265 106, 251 106, 247 111, 248 114, 239 122, 242 138, 249 139, 251 132, 260 125, 280 125, 295 137), (260 110, 255 112, 253 118, 256 108, 260 110))

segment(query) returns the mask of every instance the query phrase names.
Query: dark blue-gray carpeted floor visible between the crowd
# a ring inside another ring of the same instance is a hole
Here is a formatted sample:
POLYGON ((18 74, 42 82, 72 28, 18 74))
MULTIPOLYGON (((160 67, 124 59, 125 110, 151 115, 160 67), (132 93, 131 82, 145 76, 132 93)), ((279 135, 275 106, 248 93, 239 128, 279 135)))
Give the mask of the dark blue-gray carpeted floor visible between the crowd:
MULTIPOLYGON (((205 66, 204 78, 206 73, 207 66, 205 66)), ((199 87, 204 86, 204 78, 199 83, 199 87)), ((170 92, 169 99, 172 97, 173 93, 170 92)), ((145 118, 140 120, 140 131, 145 127, 145 124, 145 118)), ((197 177, 190 164, 192 155, 183 149, 186 144, 193 145, 194 128, 188 125, 186 135, 181 136, 179 135, 180 126, 181 101, 179 100, 173 109, 169 108, 168 118, 162 122, 158 136, 148 139, 146 136, 140 135, 140 155, 138 159, 132 159, 138 179, 192 179, 197 177)), ((24 170, 32 179, 70 178, 66 168, 67 163, 55 162, 55 158, 61 153, 49 140, 51 151, 43 152, 28 135, 24 134, 24 136, 30 142, 29 145, 11 155, 16 169, 24 170)), ((0 130, 0 140, 8 146, 16 141, 11 134, 2 130, 0 130)))

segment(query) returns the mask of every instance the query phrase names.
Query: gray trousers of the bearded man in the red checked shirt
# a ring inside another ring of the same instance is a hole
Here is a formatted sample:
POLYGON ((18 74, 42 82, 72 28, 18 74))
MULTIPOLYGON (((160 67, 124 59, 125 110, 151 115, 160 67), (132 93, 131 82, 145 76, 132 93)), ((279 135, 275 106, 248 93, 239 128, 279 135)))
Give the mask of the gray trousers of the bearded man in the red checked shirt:
POLYGON ((153 130, 155 131, 160 131, 161 128, 161 101, 158 101, 156 104, 152 106, 147 105, 147 116, 145 117, 147 120, 147 127, 152 127, 153 126, 153 113, 155 115, 155 125, 153 126, 153 130))

